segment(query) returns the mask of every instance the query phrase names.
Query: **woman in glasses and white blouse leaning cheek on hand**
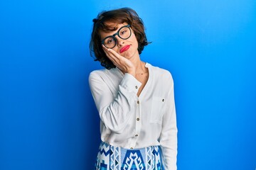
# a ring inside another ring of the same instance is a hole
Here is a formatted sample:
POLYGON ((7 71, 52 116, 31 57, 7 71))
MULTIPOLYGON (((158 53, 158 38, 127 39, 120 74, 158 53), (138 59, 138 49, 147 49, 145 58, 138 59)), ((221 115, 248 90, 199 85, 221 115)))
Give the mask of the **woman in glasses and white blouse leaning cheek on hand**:
POLYGON ((106 68, 89 77, 102 140, 95 169, 176 169, 174 83, 140 60, 149 44, 141 18, 119 8, 93 22, 90 50, 106 68))

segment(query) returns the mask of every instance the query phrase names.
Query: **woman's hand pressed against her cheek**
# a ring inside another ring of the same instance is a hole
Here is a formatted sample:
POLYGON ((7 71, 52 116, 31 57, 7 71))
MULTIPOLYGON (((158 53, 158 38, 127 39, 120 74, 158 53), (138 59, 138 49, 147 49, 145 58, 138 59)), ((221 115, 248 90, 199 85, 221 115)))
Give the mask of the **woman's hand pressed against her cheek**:
POLYGON ((122 55, 119 55, 114 50, 105 47, 104 45, 102 45, 102 48, 107 57, 113 62, 115 66, 121 69, 122 72, 132 74, 132 76, 135 77, 136 68, 134 67, 134 64, 132 64, 130 60, 123 57, 122 55))

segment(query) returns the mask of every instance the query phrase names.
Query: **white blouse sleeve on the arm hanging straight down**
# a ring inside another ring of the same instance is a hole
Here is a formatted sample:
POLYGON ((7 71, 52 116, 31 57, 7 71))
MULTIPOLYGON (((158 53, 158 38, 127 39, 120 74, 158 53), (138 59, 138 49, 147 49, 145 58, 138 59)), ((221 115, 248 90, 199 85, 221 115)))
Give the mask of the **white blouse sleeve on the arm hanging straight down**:
POLYGON ((176 126, 176 109, 174 102, 174 81, 172 78, 170 90, 166 99, 168 103, 162 121, 162 130, 159 140, 164 156, 164 168, 168 170, 176 170, 178 130, 176 126))

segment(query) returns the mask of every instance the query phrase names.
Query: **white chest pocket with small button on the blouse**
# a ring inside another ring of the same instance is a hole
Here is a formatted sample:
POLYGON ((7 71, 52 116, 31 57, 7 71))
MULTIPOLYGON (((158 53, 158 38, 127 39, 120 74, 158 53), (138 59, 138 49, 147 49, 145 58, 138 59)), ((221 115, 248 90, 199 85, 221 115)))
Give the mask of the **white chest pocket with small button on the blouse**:
POLYGON ((156 97, 152 98, 150 123, 161 123, 164 114, 165 98, 156 97))

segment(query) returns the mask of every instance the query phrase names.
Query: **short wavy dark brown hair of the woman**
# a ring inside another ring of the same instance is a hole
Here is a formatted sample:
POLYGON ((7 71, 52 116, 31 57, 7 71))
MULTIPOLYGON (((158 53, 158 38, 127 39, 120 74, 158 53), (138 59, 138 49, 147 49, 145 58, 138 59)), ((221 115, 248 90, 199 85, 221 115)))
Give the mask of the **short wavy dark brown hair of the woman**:
POLYGON ((132 8, 119 8, 111 11, 102 11, 97 15, 97 18, 94 18, 92 21, 93 28, 90 40, 90 55, 92 56, 94 53, 95 61, 99 61, 102 67, 105 67, 106 69, 111 69, 116 66, 103 51, 99 32, 100 30, 105 32, 117 30, 116 27, 110 28, 110 26, 106 24, 107 22, 129 24, 138 41, 139 55, 142 53, 144 46, 150 43, 146 40, 145 28, 142 19, 139 18, 136 11, 134 11, 132 8))

